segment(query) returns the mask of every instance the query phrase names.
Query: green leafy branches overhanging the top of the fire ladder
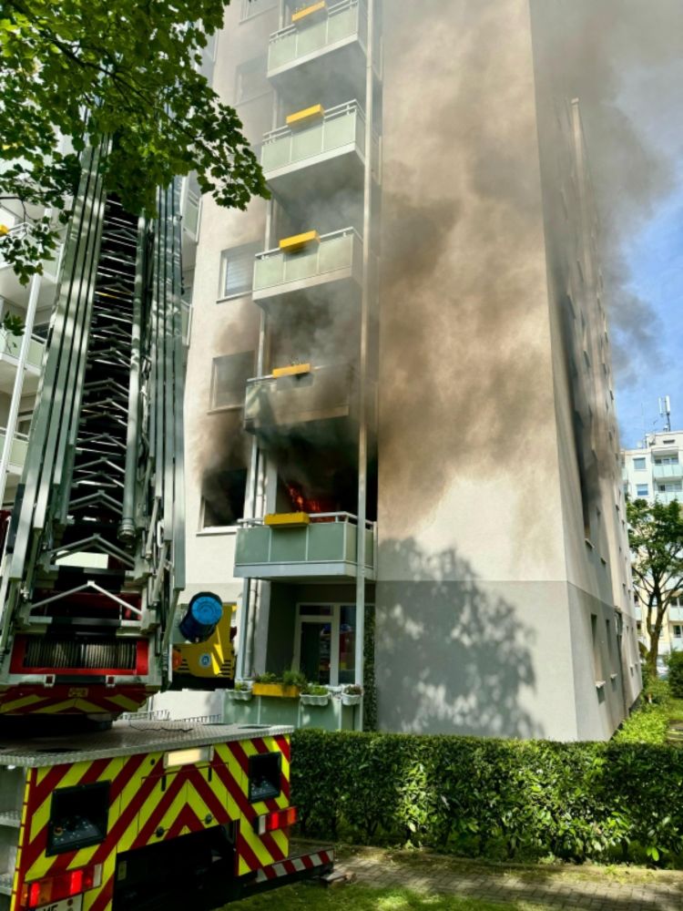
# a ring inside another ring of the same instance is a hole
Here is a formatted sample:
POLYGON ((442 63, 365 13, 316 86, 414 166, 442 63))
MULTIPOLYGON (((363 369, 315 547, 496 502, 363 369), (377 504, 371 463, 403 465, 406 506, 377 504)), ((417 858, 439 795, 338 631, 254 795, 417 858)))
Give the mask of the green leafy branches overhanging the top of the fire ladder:
MULTIPOLYGON (((129 211, 153 216, 156 189, 191 170, 221 206, 267 196, 240 119, 198 69, 224 5, 4 0, 0 197, 18 200, 25 215, 51 207, 66 223, 80 153, 107 139, 105 184, 129 211)), ((57 231, 46 218, 23 236, 0 230, 2 255, 22 281, 56 249, 57 231)))

